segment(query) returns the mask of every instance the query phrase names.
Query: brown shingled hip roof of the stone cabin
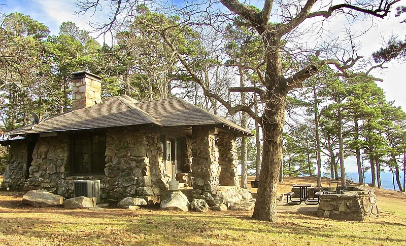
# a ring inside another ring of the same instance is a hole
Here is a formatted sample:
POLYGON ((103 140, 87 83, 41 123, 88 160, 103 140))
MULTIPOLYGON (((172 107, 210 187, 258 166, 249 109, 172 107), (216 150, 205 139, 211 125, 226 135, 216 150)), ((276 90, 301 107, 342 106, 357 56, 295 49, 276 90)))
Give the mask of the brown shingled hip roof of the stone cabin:
POLYGON ((100 104, 62 113, 8 134, 16 136, 146 124, 161 127, 213 125, 252 135, 244 128, 176 97, 138 102, 128 96, 105 98, 100 104))

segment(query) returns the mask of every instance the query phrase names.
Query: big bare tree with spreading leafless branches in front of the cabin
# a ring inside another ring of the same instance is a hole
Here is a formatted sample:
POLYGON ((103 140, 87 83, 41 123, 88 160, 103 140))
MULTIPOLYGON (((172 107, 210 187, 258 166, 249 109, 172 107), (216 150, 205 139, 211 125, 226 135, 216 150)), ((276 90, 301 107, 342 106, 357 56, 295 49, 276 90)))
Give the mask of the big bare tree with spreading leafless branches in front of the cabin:
MULTIPOLYGON (((323 33, 323 21, 330 17, 345 17, 356 20, 357 18, 378 17, 384 18, 390 12, 392 5, 400 0, 380 0, 380 1, 362 1, 358 0, 349 4, 334 5, 333 1, 278 1, 265 0, 262 10, 240 3, 237 0, 220 0, 225 8, 235 15, 238 15, 247 20, 262 38, 264 50, 264 64, 266 66, 263 73, 258 72, 260 84, 262 88, 249 87, 241 88, 241 91, 256 93, 261 97, 260 103, 263 104, 262 115, 255 114, 252 111, 252 104, 249 105, 234 105, 215 94, 210 88, 207 88, 204 80, 201 79, 195 72, 193 67, 187 62, 176 47, 172 44, 172 40, 167 36, 167 27, 165 29, 156 29, 176 53, 179 62, 189 72, 190 76, 204 91, 204 95, 216 99, 223 104, 230 114, 239 111, 245 111, 254 120, 262 126, 263 135, 263 153, 261 171, 259 175, 259 187, 257 199, 255 203, 253 218, 263 221, 277 221, 276 212, 276 197, 279 169, 282 163, 282 129, 285 122, 285 103, 287 94, 295 89, 302 87, 302 81, 317 73, 323 65, 330 65, 335 70, 337 76, 355 77, 358 75, 374 78, 369 75, 372 70, 368 69, 363 72, 354 72, 351 68, 360 62, 362 57, 357 56, 355 50, 351 47, 347 52, 344 52, 341 57, 338 57, 337 50, 331 50, 328 45, 325 50, 322 50, 323 56, 320 56, 320 61, 316 63, 306 63, 302 59, 303 50, 313 52, 318 50, 318 47, 312 49, 307 47, 298 47, 292 43, 293 40, 309 38, 310 31, 318 29, 316 34, 319 36, 323 33), (273 22, 270 22, 272 20, 273 22), (277 23, 275 23, 276 21, 277 23), (306 30, 303 29, 303 22, 311 23, 306 30), (283 56, 289 56, 296 64, 299 64, 290 69, 286 69, 283 63, 283 56)), ((79 0, 83 12, 89 9, 97 8, 103 1, 79 0)), ((128 9, 123 8, 134 5, 135 0, 115 0, 110 4, 114 9, 113 17, 110 23, 113 23, 119 15, 128 13, 128 9), (122 11, 123 10, 123 11, 122 11), (125 12, 127 11, 127 12, 125 12)), ((212 5, 213 2, 209 2, 212 5)), ((184 15, 186 19, 174 28, 181 28, 189 24, 195 25, 196 19, 191 19, 191 12, 201 14, 201 23, 206 27, 220 28, 221 25, 214 25, 214 22, 219 20, 221 14, 228 14, 224 9, 217 10, 213 13, 208 13, 207 10, 214 8, 198 8, 197 4, 188 4, 186 7, 179 9, 179 15, 184 15)), ((227 15, 223 15, 227 17, 227 15)), ((226 19, 227 21, 227 19, 226 19)), ((338 24, 338 23, 337 23, 338 24)), ((106 31, 109 30, 109 23, 101 26, 106 31)), ((153 28, 151 26, 151 28, 153 28)), ((315 32, 313 32, 315 33, 315 32)), ((336 42, 337 43, 337 42, 336 42)), ((305 54, 308 55, 308 54, 305 54)), ((376 67, 379 67, 378 64, 376 67)))

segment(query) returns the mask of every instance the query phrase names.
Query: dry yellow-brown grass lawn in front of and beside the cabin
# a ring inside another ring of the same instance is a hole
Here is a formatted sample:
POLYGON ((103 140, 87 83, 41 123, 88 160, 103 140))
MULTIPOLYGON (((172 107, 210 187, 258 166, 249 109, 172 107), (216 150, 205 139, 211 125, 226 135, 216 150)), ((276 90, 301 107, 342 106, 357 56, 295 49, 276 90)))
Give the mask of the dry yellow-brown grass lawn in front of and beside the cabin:
MULTIPOLYGON (((285 178, 278 193, 296 183, 315 181, 312 177, 285 178)), ((21 196, 0 191, 0 245, 406 244, 406 197, 395 191, 377 190, 381 216, 365 222, 292 212, 279 213, 280 221, 270 223, 252 220, 252 212, 33 208, 22 204, 21 196)))

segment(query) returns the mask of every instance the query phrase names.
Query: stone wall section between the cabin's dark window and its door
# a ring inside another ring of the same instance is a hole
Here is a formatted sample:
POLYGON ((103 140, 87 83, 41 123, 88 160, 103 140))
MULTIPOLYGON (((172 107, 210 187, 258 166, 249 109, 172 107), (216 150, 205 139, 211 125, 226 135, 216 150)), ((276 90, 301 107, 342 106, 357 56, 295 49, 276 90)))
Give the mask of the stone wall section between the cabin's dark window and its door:
POLYGON ((106 136, 106 188, 111 199, 156 199, 165 190, 159 134, 150 129, 115 129, 106 136))

